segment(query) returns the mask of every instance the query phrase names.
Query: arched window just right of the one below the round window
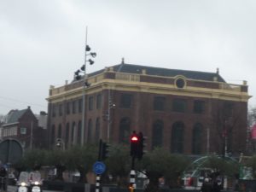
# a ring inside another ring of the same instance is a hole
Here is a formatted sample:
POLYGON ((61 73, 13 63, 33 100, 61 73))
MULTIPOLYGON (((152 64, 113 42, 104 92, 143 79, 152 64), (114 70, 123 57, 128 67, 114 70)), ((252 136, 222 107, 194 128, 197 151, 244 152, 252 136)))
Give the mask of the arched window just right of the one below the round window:
POLYGON ((192 132, 192 154, 201 154, 202 146, 202 125, 196 123, 192 132))

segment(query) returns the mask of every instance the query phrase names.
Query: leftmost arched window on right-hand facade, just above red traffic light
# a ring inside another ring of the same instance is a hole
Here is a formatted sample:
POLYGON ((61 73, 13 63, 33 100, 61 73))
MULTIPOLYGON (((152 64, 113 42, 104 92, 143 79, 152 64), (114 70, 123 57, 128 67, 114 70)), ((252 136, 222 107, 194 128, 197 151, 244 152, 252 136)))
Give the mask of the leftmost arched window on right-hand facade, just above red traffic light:
POLYGON ((119 143, 129 143, 131 120, 123 118, 119 123, 119 143))

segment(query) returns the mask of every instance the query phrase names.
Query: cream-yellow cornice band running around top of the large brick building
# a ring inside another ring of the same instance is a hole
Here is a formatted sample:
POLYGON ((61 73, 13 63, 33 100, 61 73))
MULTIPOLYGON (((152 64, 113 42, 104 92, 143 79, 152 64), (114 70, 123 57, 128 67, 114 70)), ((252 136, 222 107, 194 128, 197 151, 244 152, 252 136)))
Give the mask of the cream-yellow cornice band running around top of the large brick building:
MULTIPOLYGON (((91 84, 89 88, 85 88, 86 95, 90 95, 102 90, 122 90, 122 91, 137 91, 153 94, 164 94, 173 96, 192 96, 203 97, 221 100, 230 100, 236 102, 247 102, 251 96, 248 96, 247 91, 243 91, 242 87, 246 84, 226 84, 218 81, 203 81, 196 79, 185 79, 185 87, 177 88, 176 80, 181 76, 176 77, 160 77, 147 74, 133 73, 117 73, 113 71, 105 71, 88 79, 91 84), (109 76, 109 77, 108 77, 109 76), (147 82, 147 78, 148 82, 147 82), (155 79, 156 82, 152 82, 155 79), (166 80, 165 82, 174 83, 159 83, 158 79, 166 80), (193 84, 206 84, 204 86, 192 86, 193 84), (207 87, 209 84, 209 87, 207 87), (214 87, 214 89, 212 87, 214 87)), ((50 95, 47 98, 49 103, 63 102, 70 99, 75 99, 83 96, 83 87, 81 81, 66 84, 58 88, 51 88, 50 95)))

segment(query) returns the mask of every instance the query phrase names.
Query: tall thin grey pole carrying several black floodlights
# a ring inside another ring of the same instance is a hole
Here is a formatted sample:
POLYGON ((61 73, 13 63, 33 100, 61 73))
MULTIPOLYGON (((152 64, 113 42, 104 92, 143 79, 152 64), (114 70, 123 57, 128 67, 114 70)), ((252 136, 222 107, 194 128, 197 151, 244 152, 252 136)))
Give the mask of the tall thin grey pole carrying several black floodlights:
POLYGON ((94 64, 94 61, 91 59, 87 60, 87 56, 96 57, 95 52, 90 52, 90 46, 87 44, 87 33, 88 33, 88 27, 86 26, 86 32, 85 32, 85 51, 84 51, 84 65, 75 72, 75 79, 79 80, 81 79, 81 75, 79 73, 84 72, 84 83, 83 83, 83 108, 82 108, 82 129, 81 129, 81 145, 84 145, 84 130, 85 130, 85 89, 90 86, 87 79, 86 74, 86 63, 89 62, 90 65, 94 64))

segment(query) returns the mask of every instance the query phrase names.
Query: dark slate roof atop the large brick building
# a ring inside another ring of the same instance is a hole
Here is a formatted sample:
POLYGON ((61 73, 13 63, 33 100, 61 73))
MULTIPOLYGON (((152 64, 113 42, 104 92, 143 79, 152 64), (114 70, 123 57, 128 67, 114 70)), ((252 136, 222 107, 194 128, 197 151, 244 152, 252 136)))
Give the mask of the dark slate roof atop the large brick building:
MULTIPOLYGON (((175 77, 177 75, 183 75, 187 79, 196 79, 196 80, 205 80, 205 81, 213 81, 214 77, 218 78, 219 82, 225 82, 224 79, 218 73, 208 73, 208 72, 199 72, 199 71, 189 71, 189 70, 181 70, 181 69, 169 69, 169 68, 161 68, 161 67, 148 67, 134 64, 126 64, 121 63, 118 65, 111 66, 113 67, 113 71, 122 72, 122 73, 143 73, 143 69, 146 70, 148 75, 156 75, 163 77, 175 77)), ((96 71, 94 73, 88 74, 89 77, 94 76, 96 74, 103 73, 104 69, 96 71)))

